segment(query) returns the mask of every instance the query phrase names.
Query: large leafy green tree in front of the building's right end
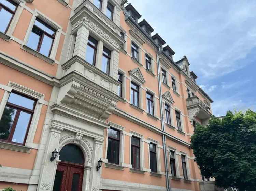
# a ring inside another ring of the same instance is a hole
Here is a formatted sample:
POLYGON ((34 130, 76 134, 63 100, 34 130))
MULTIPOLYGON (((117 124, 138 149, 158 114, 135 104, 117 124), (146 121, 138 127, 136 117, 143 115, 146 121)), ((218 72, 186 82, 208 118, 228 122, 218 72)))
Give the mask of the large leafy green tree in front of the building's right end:
POLYGON ((256 113, 228 111, 222 120, 197 124, 191 137, 201 174, 219 187, 256 191, 256 113))

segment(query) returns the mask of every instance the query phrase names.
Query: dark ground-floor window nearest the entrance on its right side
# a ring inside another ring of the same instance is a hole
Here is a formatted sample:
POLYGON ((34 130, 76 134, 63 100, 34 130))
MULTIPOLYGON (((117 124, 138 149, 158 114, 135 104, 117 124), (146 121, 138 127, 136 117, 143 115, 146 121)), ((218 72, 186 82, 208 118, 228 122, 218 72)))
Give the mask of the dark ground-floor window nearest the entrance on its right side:
POLYGON ((108 162, 119 164, 120 131, 110 128, 108 135, 108 162))

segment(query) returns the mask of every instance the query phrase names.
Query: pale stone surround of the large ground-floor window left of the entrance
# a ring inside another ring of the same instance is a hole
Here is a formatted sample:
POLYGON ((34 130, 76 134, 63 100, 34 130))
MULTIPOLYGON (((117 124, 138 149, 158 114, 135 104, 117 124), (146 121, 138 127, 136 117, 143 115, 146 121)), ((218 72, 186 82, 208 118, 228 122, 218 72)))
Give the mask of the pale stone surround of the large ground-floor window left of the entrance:
MULTIPOLYGON (((33 114, 33 117, 32 117, 32 120, 31 120, 31 123, 29 126, 29 131, 28 131, 26 142, 25 142, 25 147, 38 149, 38 144, 33 143, 33 140, 34 140, 35 132, 37 131, 37 126, 38 126, 38 121, 39 121, 41 110, 42 110, 42 105, 43 104, 48 105, 48 102, 44 100, 45 95, 42 93, 39 93, 37 91, 34 91, 32 89, 29 89, 25 86, 11 82, 11 81, 9 81, 7 86, 5 86, 5 85, 1 85, 1 86, 5 87, 4 88, 5 92, 4 92, 4 95, 3 95, 3 98, 2 98, 2 101, 0 104, 0 116, 1 117, 3 115, 5 105, 9 99, 9 95, 11 94, 12 90, 15 90, 16 92, 20 92, 24 95, 28 95, 30 97, 37 99, 37 104, 35 105, 34 114, 33 114)), ((0 86, 0 88, 1 88, 1 86, 0 86)), ((1 117, 0 117, 0 119, 1 119, 1 117)))

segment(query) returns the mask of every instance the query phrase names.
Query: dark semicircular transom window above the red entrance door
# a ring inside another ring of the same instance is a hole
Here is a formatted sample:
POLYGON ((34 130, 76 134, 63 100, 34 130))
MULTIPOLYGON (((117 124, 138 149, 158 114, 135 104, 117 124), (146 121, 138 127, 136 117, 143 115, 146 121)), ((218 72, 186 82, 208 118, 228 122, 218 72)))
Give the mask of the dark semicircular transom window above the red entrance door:
POLYGON ((83 151, 75 144, 65 145, 59 152, 59 160, 84 165, 83 151))

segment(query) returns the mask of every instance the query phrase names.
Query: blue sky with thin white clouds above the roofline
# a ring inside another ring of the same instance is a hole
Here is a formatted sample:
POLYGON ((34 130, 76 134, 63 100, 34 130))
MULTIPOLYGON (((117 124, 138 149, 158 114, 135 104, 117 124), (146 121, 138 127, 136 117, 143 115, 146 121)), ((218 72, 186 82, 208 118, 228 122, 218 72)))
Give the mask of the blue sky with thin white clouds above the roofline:
MULTIPOLYGON (((255 0, 128 0, 167 44, 184 55, 213 99, 213 114, 256 110, 255 0)), ((139 21, 140 21, 139 20, 139 21)))

